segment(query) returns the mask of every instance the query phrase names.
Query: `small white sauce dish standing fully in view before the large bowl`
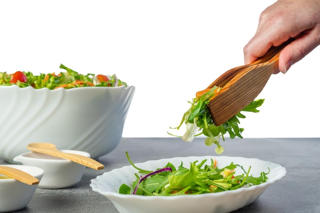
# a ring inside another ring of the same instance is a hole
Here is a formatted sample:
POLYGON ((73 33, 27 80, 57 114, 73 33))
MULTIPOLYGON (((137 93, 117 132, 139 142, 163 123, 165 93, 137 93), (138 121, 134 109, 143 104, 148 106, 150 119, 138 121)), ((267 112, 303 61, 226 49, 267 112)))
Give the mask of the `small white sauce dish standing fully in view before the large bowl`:
MULTIPOLYGON (((87 152, 76 150, 61 150, 90 157, 87 152)), ((27 152, 13 158, 24 165, 34 165, 44 170, 44 175, 39 182, 40 188, 67 188, 76 185, 82 178, 85 166, 67 159, 54 157, 37 152, 27 152)))

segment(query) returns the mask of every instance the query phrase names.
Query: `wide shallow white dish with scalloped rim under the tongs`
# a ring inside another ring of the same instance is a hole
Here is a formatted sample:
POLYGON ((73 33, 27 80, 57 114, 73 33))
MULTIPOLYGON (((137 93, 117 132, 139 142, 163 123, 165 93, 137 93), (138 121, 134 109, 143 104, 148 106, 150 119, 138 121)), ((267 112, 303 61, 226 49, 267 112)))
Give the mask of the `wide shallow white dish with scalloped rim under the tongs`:
MULTIPOLYGON (((267 175, 268 181, 260 185, 246 188, 239 188, 234 191, 226 191, 202 195, 180 195, 180 196, 140 196, 119 194, 119 187, 125 183, 129 186, 135 180, 134 173, 138 171, 131 165, 105 172, 103 175, 91 180, 92 190, 105 196, 115 205, 121 213, 223 213, 231 212, 242 208, 259 198, 265 189, 281 180, 286 175, 286 169, 279 164, 263 161, 256 158, 228 157, 228 156, 201 156, 201 157, 176 157, 171 159, 152 160, 144 163, 136 163, 136 166, 145 170, 156 170, 165 167, 168 162, 175 166, 180 165, 181 161, 185 167, 195 160, 217 159, 217 166, 222 168, 234 162, 243 165, 244 169, 252 166, 250 174, 260 176, 261 172, 270 173, 267 175)), ((210 163, 210 160, 208 160, 210 163)), ((237 170, 242 174, 241 170, 237 170)), ((237 174, 237 173, 236 173, 237 174)), ((133 190, 131 189, 131 192, 133 190)))

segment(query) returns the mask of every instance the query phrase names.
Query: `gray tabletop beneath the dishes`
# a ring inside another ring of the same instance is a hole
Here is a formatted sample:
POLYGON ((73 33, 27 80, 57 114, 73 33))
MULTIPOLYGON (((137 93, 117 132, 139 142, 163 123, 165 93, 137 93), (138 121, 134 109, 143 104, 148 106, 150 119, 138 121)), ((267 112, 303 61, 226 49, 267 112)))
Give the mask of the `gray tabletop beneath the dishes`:
MULTIPOLYGON (((236 138, 223 142, 226 156, 254 157, 279 163, 287 170, 281 181, 269 186, 259 199, 233 212, 320 212, 320 138, 236 138)), ((161 158, 216 155, 203 138, 186 143, 180 138, 123 138, 112 152, 98 158, 104 170, 86 168, 81 181, 61 190, 37 188, 29 205, 15 212, 119 212, 107 198, 93 192, 90 180, 133 162, 161 158)), ((0 164, 6 163, 0 159, 0 164)), ((135 213, 135 212, 132 212, 135 213)), ((198 213, 201 213, 199 211, 198 213)))

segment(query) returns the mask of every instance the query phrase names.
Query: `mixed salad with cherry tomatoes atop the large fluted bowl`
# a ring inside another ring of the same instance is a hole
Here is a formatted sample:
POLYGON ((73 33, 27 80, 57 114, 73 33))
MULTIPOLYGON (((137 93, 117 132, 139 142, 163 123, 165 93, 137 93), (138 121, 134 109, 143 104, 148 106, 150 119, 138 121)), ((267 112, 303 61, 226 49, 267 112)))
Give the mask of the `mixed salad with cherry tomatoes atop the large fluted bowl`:
POLYGON ((116 75, 95 75, 87 74, 82 75, 76 71, 60 64, 60 68, 63 72, 58 74, 40 74, 33 75, 31 72, 17 71, 13 74, 0 73, 0 86, 17 85, 19 87, 32 86, 35 89, 47 87, 49 89, 57 88, 75 88, 75 87, 115 87, 115 86, 127 86, 127 84, 117 78, 116 75))

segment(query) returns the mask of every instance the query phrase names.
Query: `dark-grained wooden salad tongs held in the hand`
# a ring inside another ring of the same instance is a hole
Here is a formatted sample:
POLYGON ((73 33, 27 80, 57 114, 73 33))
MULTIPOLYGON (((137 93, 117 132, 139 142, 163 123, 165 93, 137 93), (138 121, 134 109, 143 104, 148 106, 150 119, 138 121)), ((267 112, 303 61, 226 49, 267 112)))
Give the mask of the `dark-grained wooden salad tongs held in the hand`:
POLYGON ((216 126, 231 119, 257 98, 271 74, 278 68, 280 52, 291 41, 289 39, 280 46, 272 46, 253 63, 228 70, 207 87, 222 87, 208 105, 216 126))

